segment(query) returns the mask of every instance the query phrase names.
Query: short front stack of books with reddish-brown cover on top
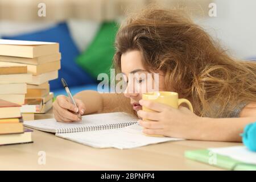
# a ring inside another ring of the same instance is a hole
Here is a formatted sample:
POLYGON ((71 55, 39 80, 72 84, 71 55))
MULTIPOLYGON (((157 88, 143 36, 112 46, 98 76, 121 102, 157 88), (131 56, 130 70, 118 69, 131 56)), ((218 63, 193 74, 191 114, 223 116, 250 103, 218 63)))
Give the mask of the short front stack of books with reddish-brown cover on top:
POLYGON ((32 130, 23 128, 20 105, 0 99, 0 146, 32 142, 32 130))

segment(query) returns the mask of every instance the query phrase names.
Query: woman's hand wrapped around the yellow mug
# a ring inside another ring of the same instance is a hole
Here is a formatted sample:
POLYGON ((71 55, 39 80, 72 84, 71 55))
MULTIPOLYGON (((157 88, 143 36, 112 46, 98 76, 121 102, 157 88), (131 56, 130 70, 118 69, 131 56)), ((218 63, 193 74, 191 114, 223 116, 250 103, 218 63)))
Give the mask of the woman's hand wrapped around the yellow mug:
POLYGON ((157 111, 139 110, 137 112, 140 118, 152 120, 142 121, 142 119, 139 119, 139 125, 144 127, 143 133, 184 139, 196 139, 199 137, 197 136, 197 126, 202 126, 203 118, 194 114, 187 107, 179 106, 179 109, 175 109, 174 107, 148 100, 140 100, 139 104, 157 111))

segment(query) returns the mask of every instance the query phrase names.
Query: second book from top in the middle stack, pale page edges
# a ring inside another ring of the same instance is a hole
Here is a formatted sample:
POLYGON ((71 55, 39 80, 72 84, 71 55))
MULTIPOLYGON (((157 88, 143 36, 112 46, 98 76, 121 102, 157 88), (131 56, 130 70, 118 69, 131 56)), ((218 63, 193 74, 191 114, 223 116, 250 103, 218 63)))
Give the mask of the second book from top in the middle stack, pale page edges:
POLYGON ((0 75, 0 84, 19 84, 32 82, 31 74, 0 75))

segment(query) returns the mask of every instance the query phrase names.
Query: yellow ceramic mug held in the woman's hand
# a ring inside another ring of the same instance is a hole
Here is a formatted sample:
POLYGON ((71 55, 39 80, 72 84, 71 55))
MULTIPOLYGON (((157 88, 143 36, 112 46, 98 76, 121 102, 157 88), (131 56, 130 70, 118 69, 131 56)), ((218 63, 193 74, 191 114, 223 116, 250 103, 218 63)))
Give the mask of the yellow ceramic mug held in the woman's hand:
MULTIPOLYGON (((182 103, 185 103, 188 105, 189 110, 193 112, 193 107, 191 102, 189 102, 185 98, 179 98, 179 94, 176 92, 148 92, 142 94, 142 100, 150 100, 153 102, 159 102, 161 104, 166 104, 171 107, 174 107, 175 109, 179 108, 179 105, 182 103)), ((156 112, 154 110, 148 109, 145 106, 142 106, 142 110, 144 111, 150 111, 150 112, 156 112)), ((151 121, 150 119, 143 118, 143 121, 151 121)), ((152 137, 163 137, 163 135, 148 135, 152 137)))

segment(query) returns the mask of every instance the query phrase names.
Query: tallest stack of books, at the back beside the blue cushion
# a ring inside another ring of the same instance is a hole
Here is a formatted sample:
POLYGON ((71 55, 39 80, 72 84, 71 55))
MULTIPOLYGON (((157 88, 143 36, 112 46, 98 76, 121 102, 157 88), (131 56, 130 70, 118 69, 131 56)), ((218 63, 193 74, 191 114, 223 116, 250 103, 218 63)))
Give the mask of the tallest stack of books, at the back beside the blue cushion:
POLYGON ((32 75, 27 81, 24 102, 14 102, 22 104, 24 120, 32 120, 35 113, 46 113, 52 108, 49 80, 58 77, 60 59, 58 43, 0 40, 0 67, 27 67, 27 73, 32 75))

